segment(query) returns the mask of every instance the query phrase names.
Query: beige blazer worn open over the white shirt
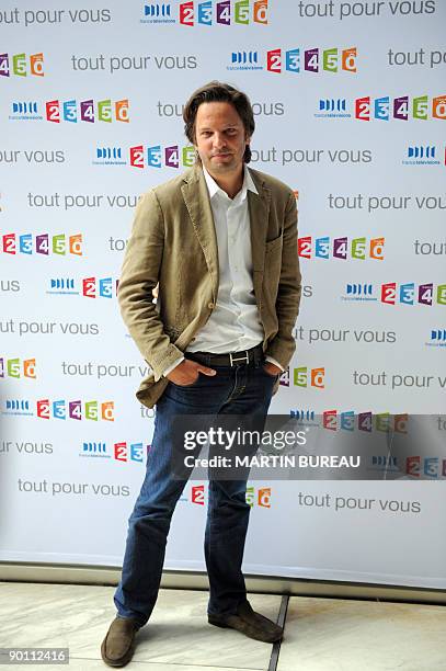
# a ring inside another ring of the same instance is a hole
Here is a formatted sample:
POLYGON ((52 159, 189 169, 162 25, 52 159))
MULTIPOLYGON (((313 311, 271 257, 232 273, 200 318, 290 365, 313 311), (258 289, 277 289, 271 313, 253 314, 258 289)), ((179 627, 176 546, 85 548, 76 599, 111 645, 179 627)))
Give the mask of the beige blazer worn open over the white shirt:
MULTIPOLYGON (((286 368, 295 351, 301 291, 296 200, 278 180, 258 170, 250 173, 259 192, 248 191, 248 203, 263 350, 286 368)), ((195 166, 139 201, 118 284, 123 319, 151 368, 136 394, 148 408, 165 389, 163 371, 206 323, 217 294, 214 218, 203 170, 195 166)))

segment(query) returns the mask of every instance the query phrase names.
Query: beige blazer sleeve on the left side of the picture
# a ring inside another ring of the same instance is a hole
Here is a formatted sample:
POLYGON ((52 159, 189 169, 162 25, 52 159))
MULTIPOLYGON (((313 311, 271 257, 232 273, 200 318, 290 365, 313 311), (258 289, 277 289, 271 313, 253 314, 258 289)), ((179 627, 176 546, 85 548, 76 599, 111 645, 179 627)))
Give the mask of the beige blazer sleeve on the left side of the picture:
POLYGON ((121 314, 158 382, 183 353, 164 332, 153 303, 164 249, 164 220, 155 191, 139 201, 118 283, 121 314))

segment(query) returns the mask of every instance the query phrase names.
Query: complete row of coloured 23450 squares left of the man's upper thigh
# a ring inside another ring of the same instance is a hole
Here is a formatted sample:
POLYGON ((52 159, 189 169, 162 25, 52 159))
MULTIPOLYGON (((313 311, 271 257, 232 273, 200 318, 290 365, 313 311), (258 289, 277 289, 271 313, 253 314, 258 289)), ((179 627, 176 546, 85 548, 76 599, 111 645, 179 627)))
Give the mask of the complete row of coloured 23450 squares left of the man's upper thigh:
POLYGON ((41 398, 36 401, 36 417, 49 420, 67 420, 77 421, 90 420, 98 422, 99 420, 114 422, 114 401, 99 402, 96 400, 82 401, 80 399, 66 401, 65 399, 50 400, 49 398, 41 398))

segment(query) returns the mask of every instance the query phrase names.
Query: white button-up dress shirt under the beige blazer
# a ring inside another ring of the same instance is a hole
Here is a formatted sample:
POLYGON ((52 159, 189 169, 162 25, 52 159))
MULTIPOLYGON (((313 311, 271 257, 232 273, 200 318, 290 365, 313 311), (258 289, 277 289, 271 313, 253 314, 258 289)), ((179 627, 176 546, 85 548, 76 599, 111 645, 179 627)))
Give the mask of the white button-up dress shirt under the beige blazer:
MULTIPOLYGON (((204 166, 203 172, 217 237, 219 286, 216 306, 206 325, 188 344, 187 352, 241 352, 260 344, 264 338, 252 282, 248 208, 248 191, 256 194, 258 190, 247 166, 242 187, 233 198, 218 186, 204 166)), ((169 366, 164 376, 183 359, 169 366)), ((267 356, 267 361, 282 368, 272 357, 267 356)))

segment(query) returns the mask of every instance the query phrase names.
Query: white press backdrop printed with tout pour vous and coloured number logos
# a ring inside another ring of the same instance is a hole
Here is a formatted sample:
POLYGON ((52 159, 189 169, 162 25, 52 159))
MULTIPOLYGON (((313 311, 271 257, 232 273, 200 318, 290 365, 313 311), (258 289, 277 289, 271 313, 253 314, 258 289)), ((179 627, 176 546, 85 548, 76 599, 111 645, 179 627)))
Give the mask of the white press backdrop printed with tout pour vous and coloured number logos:
MULTIPOLYGON (((445 14, 2 3, 0 559, 121 565, 153 412, 116 282, 139 195, 192 164, 182 104, 211 79, 250 95, 251 164, 298 198, 297 350, 272 411, 330 418, 340 445, 370 412, 446 430, 445 14)), ((244 570, 445 588, 446 470, 420 455, 397 482, 250 482, 244 570)), ((206 499, 188 482, 167 568, 204 569, 206 499)))

